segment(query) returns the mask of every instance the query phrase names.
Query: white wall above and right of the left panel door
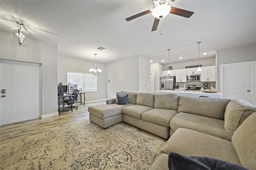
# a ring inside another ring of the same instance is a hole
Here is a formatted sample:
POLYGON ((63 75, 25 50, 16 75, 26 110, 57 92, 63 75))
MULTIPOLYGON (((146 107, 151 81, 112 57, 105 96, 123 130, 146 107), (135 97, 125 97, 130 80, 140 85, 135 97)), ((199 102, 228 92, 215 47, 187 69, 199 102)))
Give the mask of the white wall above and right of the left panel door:
POLYGON ((1 59, 42 64, 42 115, 58 113, 57 45, 30 38, 27 46, 19 46, 10 33, 0 34, 1 59))

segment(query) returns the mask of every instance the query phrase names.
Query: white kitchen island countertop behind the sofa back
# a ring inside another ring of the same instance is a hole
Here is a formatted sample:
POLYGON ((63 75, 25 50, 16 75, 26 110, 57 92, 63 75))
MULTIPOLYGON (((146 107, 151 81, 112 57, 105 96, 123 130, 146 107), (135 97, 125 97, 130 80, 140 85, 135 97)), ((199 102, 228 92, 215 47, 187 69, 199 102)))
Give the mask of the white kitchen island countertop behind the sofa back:
POLYGON ((179 96, 192 96, 192 97, 207 96, 207 97, 214 97, 214 98, 223 98, 223 93, 220 93, 220 92, 207 93, 202 91, 157 90, 157 91, 154 91, 154 93, 156 94, 176 93, 179 96))

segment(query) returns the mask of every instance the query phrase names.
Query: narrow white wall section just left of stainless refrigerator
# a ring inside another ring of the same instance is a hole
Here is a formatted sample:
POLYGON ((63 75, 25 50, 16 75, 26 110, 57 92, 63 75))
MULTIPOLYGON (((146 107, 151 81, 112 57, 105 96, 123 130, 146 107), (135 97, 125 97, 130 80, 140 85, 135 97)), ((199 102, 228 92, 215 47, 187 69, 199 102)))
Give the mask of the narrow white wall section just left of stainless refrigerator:
POLYGON ((150 72, 154 73, 154 91, 160 89, 160 77, 162 77, 162 71, 163 71, 162 64, 158 62, 150 64, 150 72))

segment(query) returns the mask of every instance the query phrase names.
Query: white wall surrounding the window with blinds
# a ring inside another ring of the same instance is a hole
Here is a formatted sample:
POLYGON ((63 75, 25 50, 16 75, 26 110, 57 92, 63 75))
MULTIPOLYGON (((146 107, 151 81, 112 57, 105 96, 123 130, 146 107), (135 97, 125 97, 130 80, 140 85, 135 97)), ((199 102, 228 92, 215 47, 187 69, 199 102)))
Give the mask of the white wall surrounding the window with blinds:
MULTIPOLYGON (((94 68, 94 64, 92 61, 58 55, 58 83, 67 85, 67 71, 90 73, 89 69, 94 68)), ((106 65, 97 61, 96 65, 102 72, 97 75, 97 91, 85 93, 86 103, 106 99, 106 65)))

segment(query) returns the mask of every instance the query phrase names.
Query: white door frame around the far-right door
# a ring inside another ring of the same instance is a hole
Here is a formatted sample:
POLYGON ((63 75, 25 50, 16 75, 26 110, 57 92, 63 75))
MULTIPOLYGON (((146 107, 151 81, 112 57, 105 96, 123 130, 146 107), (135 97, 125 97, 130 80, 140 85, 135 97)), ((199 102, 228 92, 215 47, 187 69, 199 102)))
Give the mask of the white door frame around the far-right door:
POLYGON ((223 77, 223 67, 230 66, 239 66, 239 65, 250 65, 251 66, 251 104, 256 105, 256 61, 246 61, 240 63, 228 63, 228 64, 220 64, 220 92, 224 93, 224 77, 223 77))

